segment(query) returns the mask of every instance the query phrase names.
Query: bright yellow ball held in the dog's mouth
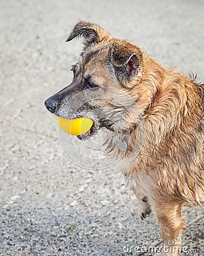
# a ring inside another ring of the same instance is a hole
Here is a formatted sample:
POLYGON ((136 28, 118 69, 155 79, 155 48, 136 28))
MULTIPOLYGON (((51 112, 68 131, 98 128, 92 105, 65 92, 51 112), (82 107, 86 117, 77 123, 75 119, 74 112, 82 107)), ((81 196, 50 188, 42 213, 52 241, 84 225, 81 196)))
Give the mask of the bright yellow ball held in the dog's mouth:
POLYGON ((91 129, 93 121, 89 118, 66 119, 57 117, 57 122, 65 133, 81 135, 91 129))

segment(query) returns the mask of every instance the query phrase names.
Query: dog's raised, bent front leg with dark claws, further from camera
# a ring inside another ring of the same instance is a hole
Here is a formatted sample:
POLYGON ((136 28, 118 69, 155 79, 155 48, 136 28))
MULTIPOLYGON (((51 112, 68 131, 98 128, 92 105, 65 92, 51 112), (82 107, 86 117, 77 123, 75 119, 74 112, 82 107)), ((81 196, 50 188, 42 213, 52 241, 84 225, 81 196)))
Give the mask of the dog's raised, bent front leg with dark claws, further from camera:
POLYGON ((137 189, 135 189, 134 186, 131 187, 131 190, 137 197, 138 203, 139 203, 139 216, 142 218, 142 220, 148 216, 150 216, 151 209, 147 202, 147 197, 144 196, 141 192, 138 192, 137 189))

